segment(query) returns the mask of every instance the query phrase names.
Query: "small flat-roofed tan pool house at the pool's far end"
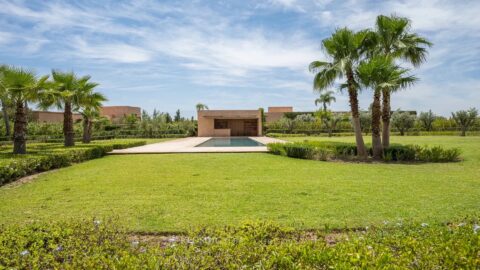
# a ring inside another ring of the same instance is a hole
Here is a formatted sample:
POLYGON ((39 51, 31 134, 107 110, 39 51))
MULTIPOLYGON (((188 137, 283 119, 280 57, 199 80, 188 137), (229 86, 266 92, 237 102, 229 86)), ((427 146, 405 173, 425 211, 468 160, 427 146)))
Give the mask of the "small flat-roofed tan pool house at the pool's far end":
POLYGON ((198 111, 198 136, 262 136, 262 113, 260 110, 198 111))

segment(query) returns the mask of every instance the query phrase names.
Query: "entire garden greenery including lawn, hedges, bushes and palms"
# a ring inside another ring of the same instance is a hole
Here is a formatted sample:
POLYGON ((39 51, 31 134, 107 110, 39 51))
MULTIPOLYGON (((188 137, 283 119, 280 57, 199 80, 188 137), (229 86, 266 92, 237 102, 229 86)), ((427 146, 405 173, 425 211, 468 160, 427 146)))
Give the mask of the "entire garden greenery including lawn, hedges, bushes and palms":
POLYGON ((195 136, 196 121, 112 123, 90 76, 1 66, 0 269, 478 268, 478 111, 391 109, 418 81, 402 65, 431 45, 397 16, 335 30, 309 66, 322 107, 266 124, 286 141, 270 153, 109 155, 195 136), (349 112, 329 110, 334 86, 349 112))

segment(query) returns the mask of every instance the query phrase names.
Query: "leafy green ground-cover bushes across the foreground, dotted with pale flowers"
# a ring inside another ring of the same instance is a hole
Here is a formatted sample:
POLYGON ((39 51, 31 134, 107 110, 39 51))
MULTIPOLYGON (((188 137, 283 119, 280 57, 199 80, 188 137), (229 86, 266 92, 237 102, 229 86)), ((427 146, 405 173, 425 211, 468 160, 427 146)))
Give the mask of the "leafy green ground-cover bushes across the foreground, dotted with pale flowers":
POLYGON ((134 235, 111 221, 0 227, 6 269, 478 269, 473 218, 358 230, 299 231, 270 222, 134 235))

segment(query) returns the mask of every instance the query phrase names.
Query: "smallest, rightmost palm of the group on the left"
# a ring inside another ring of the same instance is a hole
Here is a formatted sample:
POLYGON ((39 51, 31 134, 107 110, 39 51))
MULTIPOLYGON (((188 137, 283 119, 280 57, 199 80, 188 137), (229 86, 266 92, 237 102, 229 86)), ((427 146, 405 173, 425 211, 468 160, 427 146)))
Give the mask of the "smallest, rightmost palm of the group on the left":
POLYGON ((80 110, 83 118, 83 143, 90 143, 93 122, 100 117, 100 107, 104 101, 107 101, 107 98, 102 93, 94 92, 93 88, 83 96, 80 110))

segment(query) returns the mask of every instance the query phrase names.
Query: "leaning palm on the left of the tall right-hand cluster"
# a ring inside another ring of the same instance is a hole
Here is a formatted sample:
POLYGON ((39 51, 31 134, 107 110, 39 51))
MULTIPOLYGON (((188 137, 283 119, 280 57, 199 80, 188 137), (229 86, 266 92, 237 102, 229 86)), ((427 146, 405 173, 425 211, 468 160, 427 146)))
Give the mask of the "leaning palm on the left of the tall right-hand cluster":
POLYGON ((368 31, 354 32, 347 28, 336 30, 330 38, 322 41, 322 47, 332 61, 314 61, 309 67, 310 71, 315 73, 313 87, 317 91, 322 91, 332 86, 337 78, 346 77, 344 86, 347 88, 349 95, 357 154, 362 158, 367 157, 367 151, 360 126, 359 87, 354 76, 354 70, 362 58, 364 42, 367 36, 368 31))

